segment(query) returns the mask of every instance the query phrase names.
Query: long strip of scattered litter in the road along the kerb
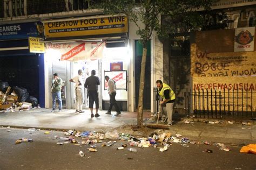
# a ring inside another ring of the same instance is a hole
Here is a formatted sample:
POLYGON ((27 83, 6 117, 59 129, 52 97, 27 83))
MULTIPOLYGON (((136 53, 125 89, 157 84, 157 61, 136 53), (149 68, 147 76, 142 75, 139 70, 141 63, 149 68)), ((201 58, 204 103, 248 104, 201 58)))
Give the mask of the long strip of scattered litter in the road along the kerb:
MULTIPOLYGON (((83 131, 79 132, 77 130, 69 130, 64 132, 66 137, 55 136, 53 140, 58 140, 57 145, 64 144, 75 144, 78 146, 84 145, 89 146, 87 150, 89 152, 97 152, 98 147, 110 147, 116 145, 117 150, 124 150, 125 147, 131 152, 137 152, 134 147, 144 148, 144 147, 154 147, 158 148, 160 152, 167 151, 172 143, 179 143, 183 147, 189 147, 189 144, 205 144, 205 145, 215 145, 218 146, 220 150, 230 151, 230 148, 224 146, 221 143, 210 143, 208 141, 196 142, 183 137, 181 134, 171 135, 170 132, 152 133, 148 137, 136 138, 130 134, 118 133, 116 130, 112 132, 98 133, 95 131, 83 131), (80 139, 78 139, 78 137, 80 139), (108 140, 108 141, 104 141, 108 140), (123 141, 121 144, 117 144, 117 140, 123 141)), ((212 152, 210 152, 212 153, 212 152)))

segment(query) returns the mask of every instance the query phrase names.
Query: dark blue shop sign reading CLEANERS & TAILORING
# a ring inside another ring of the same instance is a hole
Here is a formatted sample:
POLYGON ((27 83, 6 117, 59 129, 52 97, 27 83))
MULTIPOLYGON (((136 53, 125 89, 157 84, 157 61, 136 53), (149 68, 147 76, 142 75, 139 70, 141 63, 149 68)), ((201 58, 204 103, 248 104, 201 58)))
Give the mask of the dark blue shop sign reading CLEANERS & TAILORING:
POLYGON ((36 22, 0 25, 0 40, 37 37, 41 30, 36 22))

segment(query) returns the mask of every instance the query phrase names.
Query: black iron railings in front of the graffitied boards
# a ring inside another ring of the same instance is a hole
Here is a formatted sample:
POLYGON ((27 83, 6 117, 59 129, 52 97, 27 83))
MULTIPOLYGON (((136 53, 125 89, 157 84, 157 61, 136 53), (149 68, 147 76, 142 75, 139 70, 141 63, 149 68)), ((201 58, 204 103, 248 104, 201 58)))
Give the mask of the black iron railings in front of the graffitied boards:
POLYGON ((187 116, 194 115, 200 118, 256 116, 256 93, 253 89, 186 90, 184 97, 187 116))

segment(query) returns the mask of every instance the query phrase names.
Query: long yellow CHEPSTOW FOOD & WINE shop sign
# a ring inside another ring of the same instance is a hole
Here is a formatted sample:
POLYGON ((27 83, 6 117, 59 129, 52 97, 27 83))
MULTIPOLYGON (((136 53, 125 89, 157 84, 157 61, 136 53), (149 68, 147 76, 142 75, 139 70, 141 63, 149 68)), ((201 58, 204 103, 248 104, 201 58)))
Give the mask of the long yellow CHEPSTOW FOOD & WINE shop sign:
POLYGON ((128 20, 126 16, 80 18, 45 22, 44 29, 46 38, 126 33, 128 32, 128 20))

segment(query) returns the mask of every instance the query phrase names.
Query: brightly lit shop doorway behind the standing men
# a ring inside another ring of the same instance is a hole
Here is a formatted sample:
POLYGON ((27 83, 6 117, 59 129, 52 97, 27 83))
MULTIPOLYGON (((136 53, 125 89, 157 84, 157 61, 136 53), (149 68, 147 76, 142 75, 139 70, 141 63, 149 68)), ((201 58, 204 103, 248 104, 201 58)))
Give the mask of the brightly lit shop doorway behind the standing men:
MULTIPOLYGON (((78 75, 78 70, 82 69, 83 72, 83 85, 85 83, 85 80, 87 77, 91 76, 91 70, 96 70, 96 76, 99 76, 99 66, 100 66, 100 60, 93 60, 93 61, 76 61, 71 63, 71 78, 78 75)), ((101 86, 101 85, 100 85, 101 86)), ((100 89, 99 86, 99 89, 100 89)), ((101 96, 100 90, 98 90, 99 97, 101 96)), ((87 95, 87 89, 83 88, 83 108, 89 108, 89 98, 87 95)), ((75 95, 75 83, 72 83, 71 86, 71 98, 72 98, 72 104, 71 107, 75 108, 75 102, 76 102, 76 95, 75 95)), ((101 104, 99 104, 101 105, 101 104)))

